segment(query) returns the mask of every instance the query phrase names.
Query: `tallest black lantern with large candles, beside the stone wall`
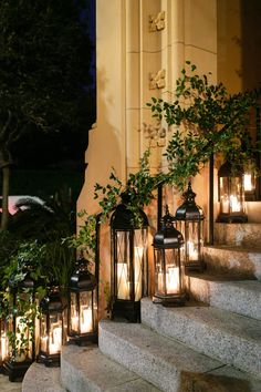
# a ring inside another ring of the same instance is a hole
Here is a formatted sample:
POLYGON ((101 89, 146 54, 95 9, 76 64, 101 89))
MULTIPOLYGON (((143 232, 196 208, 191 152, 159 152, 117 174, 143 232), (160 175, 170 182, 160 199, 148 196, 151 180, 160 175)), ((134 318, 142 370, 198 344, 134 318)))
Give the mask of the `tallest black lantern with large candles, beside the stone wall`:
POLYGON ((134 227, 134 214, 127 208, 126 200, 127 195, 123 194, 123 203, 111 218, 112 317, 139 322, 140 299, 148 295, 148 219, 140 210, 140 227, 134 227))

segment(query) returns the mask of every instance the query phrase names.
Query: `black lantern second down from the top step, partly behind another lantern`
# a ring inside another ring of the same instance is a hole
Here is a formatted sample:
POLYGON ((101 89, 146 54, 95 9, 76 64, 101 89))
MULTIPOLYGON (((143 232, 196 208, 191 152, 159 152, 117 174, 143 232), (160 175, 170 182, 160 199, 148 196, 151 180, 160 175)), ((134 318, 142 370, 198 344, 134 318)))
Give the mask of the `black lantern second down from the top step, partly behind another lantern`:
POLYGON ((177 229, 184 236, 184 248, 181 250, 185 269, 202 271, 202 245, 203 245, 203 214, 202 209, 196 205, 196 194, 192 192, 191 183, 185 192, 184 203, 178 207, 175 219, 177 229))

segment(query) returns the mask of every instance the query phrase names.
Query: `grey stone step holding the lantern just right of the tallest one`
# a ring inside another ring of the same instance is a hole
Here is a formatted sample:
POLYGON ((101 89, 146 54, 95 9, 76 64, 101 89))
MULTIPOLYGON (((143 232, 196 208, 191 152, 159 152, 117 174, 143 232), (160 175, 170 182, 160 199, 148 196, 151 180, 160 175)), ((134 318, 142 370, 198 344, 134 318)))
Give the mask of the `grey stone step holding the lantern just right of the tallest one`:
POLYGON ((164 308, 142 300, 142 322, 192 349, 261 379, 261 321, 187 303, 164 308))

